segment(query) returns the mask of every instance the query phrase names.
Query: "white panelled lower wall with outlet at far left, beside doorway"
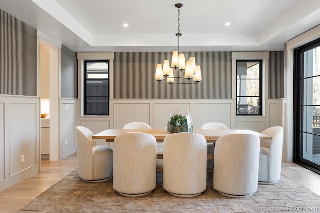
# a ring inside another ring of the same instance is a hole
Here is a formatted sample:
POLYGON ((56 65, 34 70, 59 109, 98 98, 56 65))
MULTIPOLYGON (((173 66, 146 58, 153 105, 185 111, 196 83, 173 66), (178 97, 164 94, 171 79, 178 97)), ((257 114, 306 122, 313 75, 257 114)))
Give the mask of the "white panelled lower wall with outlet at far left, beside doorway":
POLYGON ((40 171, 39 129, 39 97, 0 95, 0 191, 40 171))

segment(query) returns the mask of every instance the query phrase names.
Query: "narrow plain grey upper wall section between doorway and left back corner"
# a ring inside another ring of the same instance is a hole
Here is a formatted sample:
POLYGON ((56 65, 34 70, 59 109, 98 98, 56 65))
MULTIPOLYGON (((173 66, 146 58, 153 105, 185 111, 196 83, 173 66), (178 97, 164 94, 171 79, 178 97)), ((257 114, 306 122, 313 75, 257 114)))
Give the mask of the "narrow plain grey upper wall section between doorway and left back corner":
POLYGON ((63 45, 61 48, 61 97, 77 98, 76 53, 63 45))

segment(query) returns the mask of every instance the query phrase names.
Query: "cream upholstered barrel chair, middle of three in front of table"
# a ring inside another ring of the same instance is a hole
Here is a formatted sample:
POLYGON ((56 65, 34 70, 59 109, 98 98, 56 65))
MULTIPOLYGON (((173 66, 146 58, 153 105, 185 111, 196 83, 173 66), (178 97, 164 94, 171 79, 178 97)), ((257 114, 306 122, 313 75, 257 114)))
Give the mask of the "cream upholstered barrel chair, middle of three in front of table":
POLYGON ((163 188, 179 197, 206 189, 206 139, 197 133, 174 133, 163 144, 163 188))

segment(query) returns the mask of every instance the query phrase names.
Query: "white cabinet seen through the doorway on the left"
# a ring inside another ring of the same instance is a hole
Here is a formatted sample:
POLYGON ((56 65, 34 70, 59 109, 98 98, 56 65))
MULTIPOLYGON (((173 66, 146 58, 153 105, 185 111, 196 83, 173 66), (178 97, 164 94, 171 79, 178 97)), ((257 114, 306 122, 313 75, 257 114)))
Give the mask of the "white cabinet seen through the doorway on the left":
POLYGON ((50 120, 41 119, 41 159, 50 159, 50 120))

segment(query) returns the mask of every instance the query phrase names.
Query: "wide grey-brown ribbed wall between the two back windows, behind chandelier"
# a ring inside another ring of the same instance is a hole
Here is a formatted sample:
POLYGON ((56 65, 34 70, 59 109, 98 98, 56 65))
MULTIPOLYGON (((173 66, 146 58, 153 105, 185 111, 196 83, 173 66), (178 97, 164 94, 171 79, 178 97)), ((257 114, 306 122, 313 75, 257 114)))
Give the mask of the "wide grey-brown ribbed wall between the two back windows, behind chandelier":
POLYGON ((201 66, 197 85, 169 85, 155 81, 157 63, 171 61, 172 52, 115 52, 114 98, 228 99, 232 95, 231 52, 181 52, 201 66))

